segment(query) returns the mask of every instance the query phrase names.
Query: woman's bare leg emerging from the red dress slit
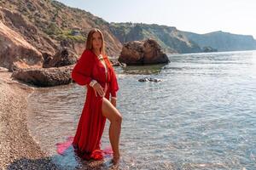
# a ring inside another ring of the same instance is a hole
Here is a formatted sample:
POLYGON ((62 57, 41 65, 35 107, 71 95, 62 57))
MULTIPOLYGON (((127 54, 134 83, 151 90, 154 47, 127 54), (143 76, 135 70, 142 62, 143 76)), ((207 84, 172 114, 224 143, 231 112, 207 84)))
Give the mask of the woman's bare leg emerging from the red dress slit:
POLYGON ((103 98, 102 101, 102 115, 107 117, 110 121, 109 140, 113 148, 113 162, 119 161, 119 137, 121 133, 122 116, 119 111, 108 101, 103 98))

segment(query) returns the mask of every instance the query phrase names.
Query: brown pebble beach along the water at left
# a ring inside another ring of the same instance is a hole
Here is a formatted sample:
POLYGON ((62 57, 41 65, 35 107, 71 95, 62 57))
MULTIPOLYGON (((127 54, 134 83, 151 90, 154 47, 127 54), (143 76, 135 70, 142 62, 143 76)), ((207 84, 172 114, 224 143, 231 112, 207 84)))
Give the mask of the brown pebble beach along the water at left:
POLYGON ((57 169, 27 127, 28 97, 35 88, 0 70, 0 169, 57 169))

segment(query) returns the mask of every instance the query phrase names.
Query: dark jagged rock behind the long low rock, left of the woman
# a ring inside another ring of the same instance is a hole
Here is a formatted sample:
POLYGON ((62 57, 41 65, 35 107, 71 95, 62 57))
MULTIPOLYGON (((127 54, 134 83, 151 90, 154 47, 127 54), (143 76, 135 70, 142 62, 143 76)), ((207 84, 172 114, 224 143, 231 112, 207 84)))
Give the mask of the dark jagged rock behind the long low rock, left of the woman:
POLYGON ((65 65, 73 65, 77 62, 78 55, 69 48, 60 48, 59 51, 51 57, 46 55, 44 58, 44 68, 60 67, 65 65))

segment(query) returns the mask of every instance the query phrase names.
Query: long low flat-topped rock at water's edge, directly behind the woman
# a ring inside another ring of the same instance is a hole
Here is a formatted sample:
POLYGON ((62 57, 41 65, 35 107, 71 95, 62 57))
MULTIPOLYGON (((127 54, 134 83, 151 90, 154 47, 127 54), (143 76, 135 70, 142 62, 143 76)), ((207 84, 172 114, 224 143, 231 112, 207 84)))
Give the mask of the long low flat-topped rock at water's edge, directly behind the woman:
POLYGON ((73 66, 74 65, 53 68, 22 69, 15 71, 12 77, 38 87, 57 86, 73 82, 71 78, 73 66))

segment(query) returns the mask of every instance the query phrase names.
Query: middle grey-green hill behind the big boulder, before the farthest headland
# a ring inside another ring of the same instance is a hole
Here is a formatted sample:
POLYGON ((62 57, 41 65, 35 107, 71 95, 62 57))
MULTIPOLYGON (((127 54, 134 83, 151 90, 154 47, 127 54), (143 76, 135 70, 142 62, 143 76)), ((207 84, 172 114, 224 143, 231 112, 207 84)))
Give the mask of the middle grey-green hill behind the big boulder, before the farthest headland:
POLYGON ((201 52, 201 48, 195 42, 190 41, 182 31, 178 31, 176 27, 128 22, 111 23, 110 30, 122 43, 153 38, 168 53, 201 52))

